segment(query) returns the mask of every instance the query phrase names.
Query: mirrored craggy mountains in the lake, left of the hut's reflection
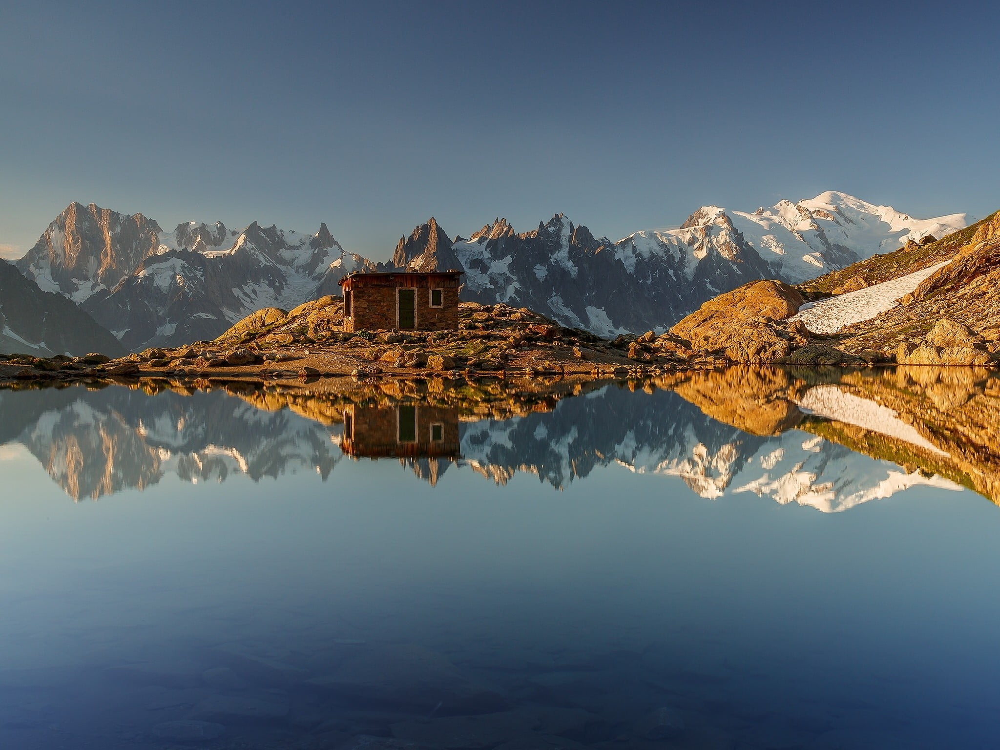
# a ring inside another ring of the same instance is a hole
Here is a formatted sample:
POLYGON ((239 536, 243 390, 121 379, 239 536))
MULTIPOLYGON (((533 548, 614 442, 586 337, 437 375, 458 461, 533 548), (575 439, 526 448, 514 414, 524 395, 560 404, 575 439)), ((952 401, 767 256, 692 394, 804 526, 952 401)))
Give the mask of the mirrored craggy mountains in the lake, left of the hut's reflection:
POLYGON ((0 391, 0 414, 0 443, 23 443, 75 499, 142 489, 166 474, 193 483, 298 470, 326 478, 342 456, 332 428, 221 391, 0 391))

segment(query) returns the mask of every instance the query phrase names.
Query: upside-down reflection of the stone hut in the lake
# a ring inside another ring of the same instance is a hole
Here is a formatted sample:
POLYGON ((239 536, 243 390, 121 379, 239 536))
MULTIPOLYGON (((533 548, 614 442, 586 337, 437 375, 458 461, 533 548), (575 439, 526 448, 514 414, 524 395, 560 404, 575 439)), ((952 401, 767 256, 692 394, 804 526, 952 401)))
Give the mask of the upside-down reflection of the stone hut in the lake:
POLYGON ((344 440, 351 456, 458 458, 458 409, 424 404, 344 408, 344 440))

